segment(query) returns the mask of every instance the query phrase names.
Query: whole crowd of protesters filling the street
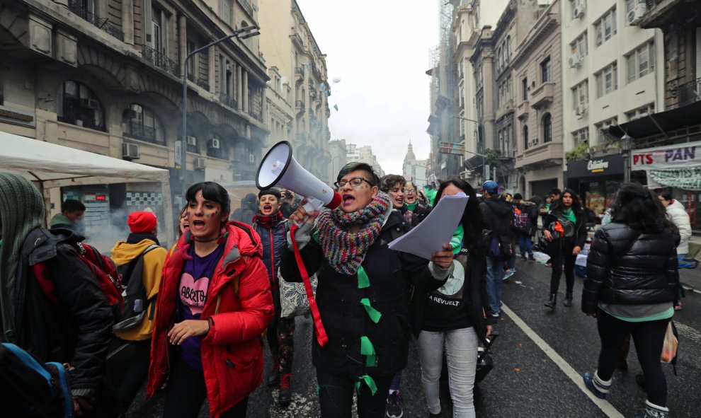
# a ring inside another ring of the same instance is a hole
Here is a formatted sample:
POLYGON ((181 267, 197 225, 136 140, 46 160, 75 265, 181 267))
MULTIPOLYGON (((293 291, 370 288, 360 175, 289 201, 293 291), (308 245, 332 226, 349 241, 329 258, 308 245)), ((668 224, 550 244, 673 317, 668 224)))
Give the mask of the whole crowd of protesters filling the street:
MULTIPOLYGON (((77 416, 125 416, 146 382, 147 397, 164 391, 164 417, 197 417, 205 400, 212 417, 245 417, 249 395, 263 381, 279 386, 280 407, 292 402, 295 318, 282 314, 280 281, 315 274, 323 326, 307 337, 321 417, 350 417, 354 395, 359 417, 402 417, 412 335, 429 417, 442 414, 441 373, 448 373, 453 417, 474 417, 478 347, 488 344, 502 315, 503 282, 516 273, 518 255, 534 262, 535 250, 546 252, 552 271, 545 306, 556 309, 563 273, 563 305, 573 306, 575 260, 588 238, 579 196, 554 189, 524 199, 493 180, 479 189, 439 180, 424 190, 401 175, 379 178, 361 162, 344 166, 334 186, 341 205, 308 212, 291 190, 246 195, 232 211, 221 185, 191 185, 169 250, 159 242, 156 215, 132 212, 125 240, 110 251, 127 308, 138 314, 124 320, 83 260, 84 205, 67 200, 42 228, 40 192, 21 176, 0 173, 1 341, 65 364, 64 404, 77 416), (452 239, 429 259, 389 249, 441 199, 462 194, 467 205, 452 239), (268 376, 262 336, 273 359, 268 376), (128 366, 110 364, 115 342, 126 347, 128 366)), ((583 375, 586 387, 606 397, 617 354, 632 336, 646 417, 668 417, 659 352, 680 308, 677 268, 688 252, 677 204, 639 185, 622 187, 612 221, 593 236, 581 296, 601 339, 598 368, 583 375)), ((6 352, 0 354, 4 361, 6 352)), ((2 372, 0 380, 8 376, 2 372)), ((13 416, 35 408, 28 393, 15 399, 13 416)))

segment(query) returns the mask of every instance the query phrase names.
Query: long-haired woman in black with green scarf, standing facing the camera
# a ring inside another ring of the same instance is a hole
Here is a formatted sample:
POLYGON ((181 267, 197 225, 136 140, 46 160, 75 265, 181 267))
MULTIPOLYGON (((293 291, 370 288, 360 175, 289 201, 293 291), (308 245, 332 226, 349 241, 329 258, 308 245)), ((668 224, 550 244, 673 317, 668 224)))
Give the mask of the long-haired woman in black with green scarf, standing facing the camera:
POLYGON ((545 306, 555 309, 557 289, 560 286, 563 265, 566 282, 564 306, 572 306, 574 289, 574 262, 586 242, 586 217, 579 196, 572 189, 565 189, 562 197, 553 200, 550 213, 543 224, 545 239, 552 241, 554 250, 549 251, 552 262, 550 293, 545 306))

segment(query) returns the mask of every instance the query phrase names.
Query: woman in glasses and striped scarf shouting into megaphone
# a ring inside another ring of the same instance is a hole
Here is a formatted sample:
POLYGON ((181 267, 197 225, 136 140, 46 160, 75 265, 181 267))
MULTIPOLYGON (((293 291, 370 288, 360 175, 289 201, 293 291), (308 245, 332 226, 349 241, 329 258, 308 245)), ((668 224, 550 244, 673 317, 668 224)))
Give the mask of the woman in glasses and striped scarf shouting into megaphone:
MULTIPOLYGON (((421 282, 437 289, 452 264, 448 243, 430 262, 388 248, 411 227, 392 212, 379 183, 372 166, 348 163, 334 183, 339 207, 318 213, 300 207, 290 215, 297 223, 314 223, 311 239, 304 239, 302 228, 295 241, 308 241, 301 260, 307 272, 317 272, 316 302, 328 337, 323 347, 312 342, 321 417, 350 417, 354 390, 358 417, 384 417, 389 385, 409 352, 409 288, 421 282)), ((280 269, 287 281, 302 281, 291 250, 280 269)))

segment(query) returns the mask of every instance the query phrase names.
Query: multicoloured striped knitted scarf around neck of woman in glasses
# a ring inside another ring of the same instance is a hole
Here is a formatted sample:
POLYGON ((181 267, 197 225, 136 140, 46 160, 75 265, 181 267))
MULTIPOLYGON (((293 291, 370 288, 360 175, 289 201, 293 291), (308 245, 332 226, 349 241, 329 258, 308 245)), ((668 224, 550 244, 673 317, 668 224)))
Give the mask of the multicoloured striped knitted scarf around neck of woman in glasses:
POLYGON ((365 252, 380 236, 384 219, 391 213, 389 195, 377 192, 375 199, 365 208, 347 214, 341 208, 322 209, 317 218, 319 243, 329 265, 348 276, 358 272, 365 252), (350 233, 351 225, 360 225, 360 231, 350 233))

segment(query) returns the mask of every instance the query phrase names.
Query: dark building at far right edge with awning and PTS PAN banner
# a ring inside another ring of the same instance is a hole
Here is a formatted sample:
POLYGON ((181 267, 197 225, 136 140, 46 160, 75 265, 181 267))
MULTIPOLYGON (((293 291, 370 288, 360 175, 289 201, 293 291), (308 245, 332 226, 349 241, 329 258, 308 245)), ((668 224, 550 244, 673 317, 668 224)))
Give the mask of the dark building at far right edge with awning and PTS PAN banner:
POLYGON ((663 33, 665 111, 611 127, 631 145, 632 178, 670 192, 686 208, 694 231, 701 230, 701 16, 697 1, 649 0, 630 18, 640 28, 663 33))

